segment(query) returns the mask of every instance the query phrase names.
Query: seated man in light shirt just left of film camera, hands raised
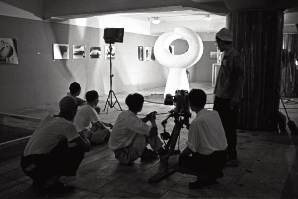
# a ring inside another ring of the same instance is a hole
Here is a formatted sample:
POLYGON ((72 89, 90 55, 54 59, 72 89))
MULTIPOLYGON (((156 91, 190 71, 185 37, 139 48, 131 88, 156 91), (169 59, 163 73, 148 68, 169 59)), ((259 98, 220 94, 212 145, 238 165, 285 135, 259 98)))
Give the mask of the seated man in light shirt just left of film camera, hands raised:
POLYGON ((155 112, 140 119, 136 114, 142 111, 144 97, 138 93, 128 95, 125 99, 128 110, 122 111, 114 124, 109 147, 114 151, 115 158, 123 164, 129 164, 136 159, 151 159, 157 157, 157 152, 163 152, 162 141, 157 133, 155 112), (151 125, 146 122, 150 121, 151 125), (150 144, 153 151, 147 149, 150 144))

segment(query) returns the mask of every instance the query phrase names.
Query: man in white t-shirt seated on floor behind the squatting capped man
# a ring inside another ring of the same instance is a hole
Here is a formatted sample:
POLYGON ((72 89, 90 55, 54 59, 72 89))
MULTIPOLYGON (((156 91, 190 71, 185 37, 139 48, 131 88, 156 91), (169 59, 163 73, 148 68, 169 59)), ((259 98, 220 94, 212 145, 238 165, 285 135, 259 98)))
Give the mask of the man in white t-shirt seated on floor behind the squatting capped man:
POLYGON ((91 143, 106 143, 111 135, 109 129, 105 126, 113 128, 110 123, 99 121, 94 107, 98 104, 98 93, 95 90, 86 92, 87 104, 80 107, 75 115, 74 125, 80 135, 88 138, 91 143), (92 124, 92 127, 91 127, 92 124))

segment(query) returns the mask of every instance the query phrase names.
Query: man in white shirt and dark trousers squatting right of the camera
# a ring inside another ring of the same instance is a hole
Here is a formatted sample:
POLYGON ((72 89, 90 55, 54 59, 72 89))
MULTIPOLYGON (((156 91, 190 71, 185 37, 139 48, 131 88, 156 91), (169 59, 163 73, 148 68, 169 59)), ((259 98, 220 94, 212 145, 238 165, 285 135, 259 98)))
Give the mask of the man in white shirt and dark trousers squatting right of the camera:
POLYGON ((190 182, 189 188, 200 189, 224 176, 227 141, 218 112, 204 109, 205 92, 192 89, 188 98, 197 115, 190 124, 186 148, 180 155, 171 156, 168 163, 178 172, 196 175, 197 181, 190 182))

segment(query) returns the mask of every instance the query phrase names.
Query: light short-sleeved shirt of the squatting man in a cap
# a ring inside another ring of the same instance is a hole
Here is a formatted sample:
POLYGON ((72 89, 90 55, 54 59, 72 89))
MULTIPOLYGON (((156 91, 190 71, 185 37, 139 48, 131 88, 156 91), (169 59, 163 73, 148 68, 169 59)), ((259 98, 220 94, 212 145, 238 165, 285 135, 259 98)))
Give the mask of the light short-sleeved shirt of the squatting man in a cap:
POLYGON ((79 133, 70 121, 47 115, 43 118, 28 141, 24 156, 31 154, 47 154, 63 139, 72 141, 79 133))

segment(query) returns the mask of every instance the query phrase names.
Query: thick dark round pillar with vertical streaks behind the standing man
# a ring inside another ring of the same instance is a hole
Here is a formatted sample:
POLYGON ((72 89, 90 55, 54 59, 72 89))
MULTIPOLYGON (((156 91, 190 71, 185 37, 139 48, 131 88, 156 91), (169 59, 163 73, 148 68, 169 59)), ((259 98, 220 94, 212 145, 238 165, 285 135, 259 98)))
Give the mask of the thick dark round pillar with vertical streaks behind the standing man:
POLYGON ((227 28, 233 32, 233 45, 243 58, 240 129, 277 127, 283 18, 279 10, 237 11, 226 17, 227 28))

